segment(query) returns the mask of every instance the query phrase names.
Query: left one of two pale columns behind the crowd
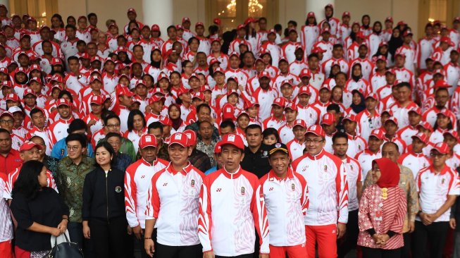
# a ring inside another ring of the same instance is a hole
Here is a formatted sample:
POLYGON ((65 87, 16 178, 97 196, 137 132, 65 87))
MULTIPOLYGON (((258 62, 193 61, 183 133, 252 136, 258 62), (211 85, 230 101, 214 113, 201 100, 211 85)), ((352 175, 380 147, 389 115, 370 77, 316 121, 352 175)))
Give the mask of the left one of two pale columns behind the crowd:
POLYGON ((158 24, 166 35, 166 28, 173 25, 173 0, 142 0, 142 16, 145 24, 158 24))

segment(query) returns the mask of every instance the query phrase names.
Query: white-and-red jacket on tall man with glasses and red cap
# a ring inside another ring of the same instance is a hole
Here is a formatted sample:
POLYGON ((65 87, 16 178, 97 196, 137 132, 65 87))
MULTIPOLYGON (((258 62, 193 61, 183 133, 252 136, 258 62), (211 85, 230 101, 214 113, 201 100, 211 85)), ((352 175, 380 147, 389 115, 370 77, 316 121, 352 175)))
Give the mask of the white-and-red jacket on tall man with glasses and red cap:
POLYGON ((309 183, 309 212, 305 225, 325 226, 348 222, 348 182, 342 161, 324 149, 304 154, 292 164, 309 183))

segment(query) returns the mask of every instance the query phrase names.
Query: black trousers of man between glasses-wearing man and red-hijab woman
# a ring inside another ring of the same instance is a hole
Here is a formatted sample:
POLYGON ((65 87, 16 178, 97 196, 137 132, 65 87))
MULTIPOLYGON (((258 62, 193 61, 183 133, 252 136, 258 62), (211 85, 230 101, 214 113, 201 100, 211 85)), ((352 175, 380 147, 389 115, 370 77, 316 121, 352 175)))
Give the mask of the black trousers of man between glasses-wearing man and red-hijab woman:
POLYGON ((348 213, 347 231, 343 238, 337 240, 337 257, 344 258, 351 250, 356 248, 358 242, 359 227, 358 227, 358 212, 350 211, 348 213))

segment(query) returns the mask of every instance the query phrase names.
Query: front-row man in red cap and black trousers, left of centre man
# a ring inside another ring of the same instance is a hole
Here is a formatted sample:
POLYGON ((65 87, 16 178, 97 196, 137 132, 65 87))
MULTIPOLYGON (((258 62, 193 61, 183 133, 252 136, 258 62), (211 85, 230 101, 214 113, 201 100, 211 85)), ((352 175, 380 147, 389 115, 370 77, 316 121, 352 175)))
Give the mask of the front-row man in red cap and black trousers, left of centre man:
POLYGON ((145 251, 150 257, 154 252, 157 257, 203 257, 196 221, 204 173, 187 160, 191 152, 185 133, 171 135, 170 164, 150 180, 144 235, 145 251), (154 227, 156 246, 152 239, 154 227))

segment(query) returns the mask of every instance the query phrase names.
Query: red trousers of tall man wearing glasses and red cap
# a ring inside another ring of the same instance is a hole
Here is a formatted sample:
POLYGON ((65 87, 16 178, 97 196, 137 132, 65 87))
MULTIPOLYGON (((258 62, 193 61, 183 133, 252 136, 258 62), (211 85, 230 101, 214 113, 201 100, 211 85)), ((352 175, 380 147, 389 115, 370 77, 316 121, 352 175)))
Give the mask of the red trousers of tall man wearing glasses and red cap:
POLYGON ((318 242, 318 254, 321 258, 337 258, 337 225, 305 226, 307 257, 315 257, 315 245, 318 242))

